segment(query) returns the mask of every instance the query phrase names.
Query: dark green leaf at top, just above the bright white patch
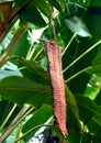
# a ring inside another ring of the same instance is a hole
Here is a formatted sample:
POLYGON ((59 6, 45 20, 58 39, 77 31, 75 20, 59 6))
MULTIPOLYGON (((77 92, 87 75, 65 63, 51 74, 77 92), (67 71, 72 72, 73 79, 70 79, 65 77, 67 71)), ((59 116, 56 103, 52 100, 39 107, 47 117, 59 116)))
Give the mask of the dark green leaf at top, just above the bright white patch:
MULTIPOLYGON (((20 14, 20 19, 23 23, 27 23, 30 26, 43 28, 46 25, 44 19, 35 7, 34 1, 30 0, 15 0, 18 6, 25 6, 20 14), (26 4, 27 3, 27 4, 26 4)), ((46 8, 47 9, 47 8, 46 8)))

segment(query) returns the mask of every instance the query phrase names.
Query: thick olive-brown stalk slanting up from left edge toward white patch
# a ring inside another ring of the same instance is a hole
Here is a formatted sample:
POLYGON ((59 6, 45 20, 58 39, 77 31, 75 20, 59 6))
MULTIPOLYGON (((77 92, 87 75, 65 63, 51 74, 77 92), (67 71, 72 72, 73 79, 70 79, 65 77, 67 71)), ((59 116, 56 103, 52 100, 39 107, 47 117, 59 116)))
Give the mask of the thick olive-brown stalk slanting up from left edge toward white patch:
POLYGON ((21 38, 21 36, 23 35, 23 33, 25 32, 26 29, 27 28, 25 25, 23 25, 20 29, 20 31, 12 38, 11 43, 9 44, 9 46, 7 47, 7 50, 4 51, 4 53, 0 56, 0 67, 2 67, 2 65, 7 61, 7 57, 9 56, 10 52, 12 51, 12 48, 14 47, 14 45, 16 44, 16 42, 21 38))

